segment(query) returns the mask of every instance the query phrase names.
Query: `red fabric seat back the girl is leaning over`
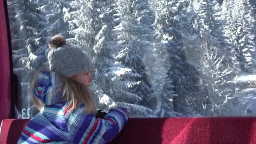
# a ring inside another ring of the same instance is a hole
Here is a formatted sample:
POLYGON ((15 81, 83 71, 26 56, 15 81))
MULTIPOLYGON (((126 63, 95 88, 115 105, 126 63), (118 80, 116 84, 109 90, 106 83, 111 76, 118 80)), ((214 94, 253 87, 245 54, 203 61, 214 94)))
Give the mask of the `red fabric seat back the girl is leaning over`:
MULTIPOLYGON (((16 144, 27 123, 3 120, 0 144, 16 144)), ((256 144, 256 118, 131 118, 111 144, 256 144)))

